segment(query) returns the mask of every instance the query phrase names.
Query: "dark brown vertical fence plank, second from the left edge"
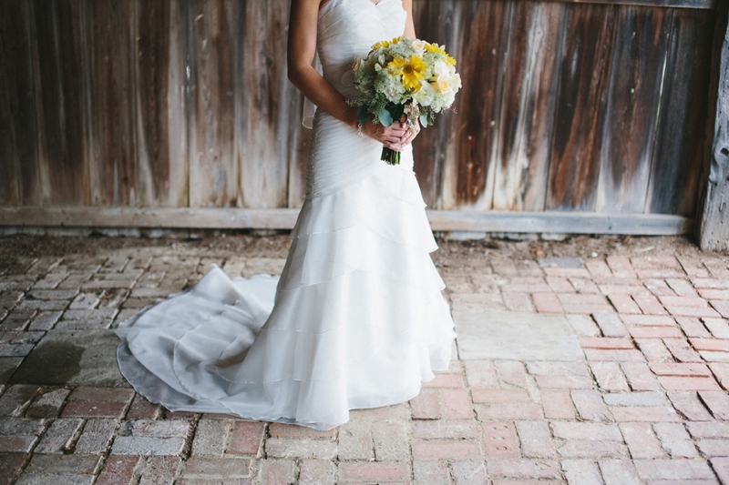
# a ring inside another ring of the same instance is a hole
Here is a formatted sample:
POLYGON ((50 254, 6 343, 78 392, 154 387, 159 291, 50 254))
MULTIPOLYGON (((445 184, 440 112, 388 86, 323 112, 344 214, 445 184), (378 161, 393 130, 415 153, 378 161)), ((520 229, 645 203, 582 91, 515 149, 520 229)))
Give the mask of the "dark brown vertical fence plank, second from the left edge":
POLYGON ((89 164, 80 0, 34 0, 38 177, 44 203, 88 202, 89 164))

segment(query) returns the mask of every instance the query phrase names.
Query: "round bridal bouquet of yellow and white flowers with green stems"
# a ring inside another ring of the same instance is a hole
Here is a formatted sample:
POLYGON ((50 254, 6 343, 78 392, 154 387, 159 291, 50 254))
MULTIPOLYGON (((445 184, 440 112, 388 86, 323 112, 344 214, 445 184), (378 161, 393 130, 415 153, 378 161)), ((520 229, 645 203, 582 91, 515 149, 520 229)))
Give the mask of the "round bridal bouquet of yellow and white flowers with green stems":
MULTIPOLYGON (((378 42, 354 62, 354 86, 362 95, 347 102, 358 106, 360 125, 370 117, 384 126, 406 121, 411 130, 416 120, 431 125, 436 113, 453 105, 461 86, 454 66, 456 60, 442 45, 408 37, 378 42)), ((383 147, 382 159, 397 165, 400 152, 383 147)))

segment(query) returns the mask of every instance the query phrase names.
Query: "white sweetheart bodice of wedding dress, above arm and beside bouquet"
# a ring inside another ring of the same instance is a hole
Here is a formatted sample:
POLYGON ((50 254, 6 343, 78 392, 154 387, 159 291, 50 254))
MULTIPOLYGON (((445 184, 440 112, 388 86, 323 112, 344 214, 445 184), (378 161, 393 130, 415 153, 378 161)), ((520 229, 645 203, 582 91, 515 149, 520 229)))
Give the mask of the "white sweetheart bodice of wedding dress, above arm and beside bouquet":
POLYGON ((316 39, 323 77, 345 97, 357 96, 352 63, 372 45, 405 31, 401 0, 329 0, 319 11, 316 39))

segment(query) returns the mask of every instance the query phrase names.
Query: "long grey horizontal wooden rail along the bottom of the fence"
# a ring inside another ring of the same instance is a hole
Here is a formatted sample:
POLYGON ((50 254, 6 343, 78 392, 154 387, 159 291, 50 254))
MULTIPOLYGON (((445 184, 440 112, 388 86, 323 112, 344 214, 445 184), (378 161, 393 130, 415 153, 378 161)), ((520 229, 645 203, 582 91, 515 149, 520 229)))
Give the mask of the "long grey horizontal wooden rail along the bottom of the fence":
MULTIPOLYGON (((0 226, 291 229, 297 214, 290 208, 0 207, 0 226)), ((670 236, 693 227, 692 219, 662 214, 430 210, 427 217, 435 231, 670 236)))

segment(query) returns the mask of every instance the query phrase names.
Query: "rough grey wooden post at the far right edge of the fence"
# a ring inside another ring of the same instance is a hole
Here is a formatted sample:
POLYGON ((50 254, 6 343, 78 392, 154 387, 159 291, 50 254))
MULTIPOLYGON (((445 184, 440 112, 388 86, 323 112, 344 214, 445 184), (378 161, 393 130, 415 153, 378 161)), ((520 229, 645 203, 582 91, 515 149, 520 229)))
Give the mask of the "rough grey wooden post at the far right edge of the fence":
POLYGON ((698 233, 699 247, 729 249, 729 8, 719 13, 714 35, 710 126, 714 125, 698 233), (713 122, 713 123, 711 123, 713 122))

